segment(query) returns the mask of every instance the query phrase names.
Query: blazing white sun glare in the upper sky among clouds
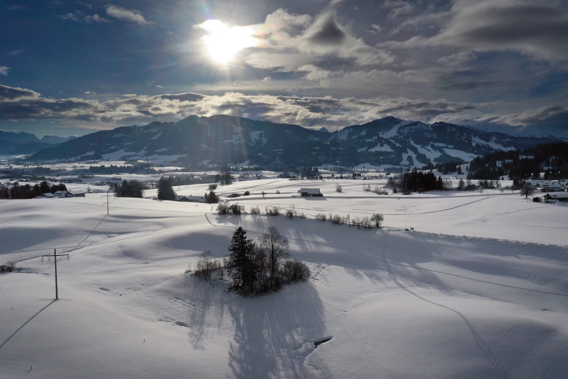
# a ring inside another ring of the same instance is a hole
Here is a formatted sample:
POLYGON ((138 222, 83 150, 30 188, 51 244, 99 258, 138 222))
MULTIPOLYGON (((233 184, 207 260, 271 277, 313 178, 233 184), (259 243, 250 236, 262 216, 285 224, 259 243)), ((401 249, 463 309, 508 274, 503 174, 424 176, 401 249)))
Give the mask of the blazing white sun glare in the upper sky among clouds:
POLYGON ((207 31, 203 42, 211 58, 220 64, 227 64, 238 51, 257 44, 254 31, 247 26, 229 27, 219 20, 207 20, 200 27, 207 31))

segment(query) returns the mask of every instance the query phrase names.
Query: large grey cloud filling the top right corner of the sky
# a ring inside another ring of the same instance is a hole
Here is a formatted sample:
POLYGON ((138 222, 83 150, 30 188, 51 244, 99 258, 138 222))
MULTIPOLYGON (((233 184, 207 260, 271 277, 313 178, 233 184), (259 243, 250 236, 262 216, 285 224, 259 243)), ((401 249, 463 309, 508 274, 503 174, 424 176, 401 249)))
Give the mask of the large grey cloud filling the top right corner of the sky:
POLYGON ((452 18, 431 37, 415 36, 390 47, 451 46, 475 51, 517 51, 550 61, 568 61, 565 2, 513 0, 457 2, 452 18))

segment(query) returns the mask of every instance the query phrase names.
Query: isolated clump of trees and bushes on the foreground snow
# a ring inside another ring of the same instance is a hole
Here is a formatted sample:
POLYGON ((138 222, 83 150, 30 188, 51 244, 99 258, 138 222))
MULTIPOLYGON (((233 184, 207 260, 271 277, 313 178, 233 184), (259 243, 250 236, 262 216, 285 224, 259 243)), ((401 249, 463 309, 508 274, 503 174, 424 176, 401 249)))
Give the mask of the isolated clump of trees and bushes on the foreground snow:
POLYGON ((211 251, 199 256, 193 272, 186 273, 210 280, 222 280, 224 271, 231 278, 230 290, 245 294, 278 290, 283 284, 305 281, 310 269, 299 260, 289 259, 288 240, 275 227, 268 227, 257 240, 247 237, 243 227, 237 228, 231 238, 230 252, 222 260, 214 259, 211 251))

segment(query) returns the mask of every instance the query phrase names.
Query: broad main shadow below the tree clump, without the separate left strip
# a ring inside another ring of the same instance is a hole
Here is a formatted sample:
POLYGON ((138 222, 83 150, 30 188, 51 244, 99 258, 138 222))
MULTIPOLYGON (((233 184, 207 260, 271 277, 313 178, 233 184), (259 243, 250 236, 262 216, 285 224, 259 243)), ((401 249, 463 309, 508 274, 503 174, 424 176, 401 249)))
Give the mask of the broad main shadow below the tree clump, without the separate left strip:
POLYGON ((285 286, 261 298, 233 299, 230 313, 235 337, 229 342, 229 366, 236 378, 321 377, 330 374, 317 355, 314 342, 328 337, 323 305, 308 283, 285 286), (304 346, 305 345, 305 346, 304 346))

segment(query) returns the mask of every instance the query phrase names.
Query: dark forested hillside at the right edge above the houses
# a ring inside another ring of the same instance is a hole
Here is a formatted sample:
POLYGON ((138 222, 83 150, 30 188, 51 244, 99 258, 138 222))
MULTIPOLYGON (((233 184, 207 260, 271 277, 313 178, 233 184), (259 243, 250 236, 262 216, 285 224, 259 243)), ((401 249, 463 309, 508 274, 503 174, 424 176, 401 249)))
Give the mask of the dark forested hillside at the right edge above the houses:
POLYGON ((511 180, 545 180, 568 177, 568 143, 536 145, 523 150, 495 151, 475 157, 469 166, 467 178, 498 179, 508 175, 511 180))

